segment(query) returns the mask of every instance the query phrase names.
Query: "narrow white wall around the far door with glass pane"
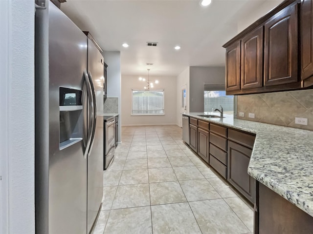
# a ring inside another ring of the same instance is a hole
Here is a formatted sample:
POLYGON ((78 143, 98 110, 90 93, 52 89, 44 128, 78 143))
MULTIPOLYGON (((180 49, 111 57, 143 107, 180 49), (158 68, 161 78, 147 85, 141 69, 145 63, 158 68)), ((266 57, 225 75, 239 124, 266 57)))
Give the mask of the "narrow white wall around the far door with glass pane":
POLYGON ((187 67, 185 70, 183 70, 179 76, 176 78, 176 82, 177 82, 177 98, 176 98, 176 124, 181 127, 181 87, 183 85, 186 85, 187 86, 187 110, 186 112, 189 112, 189 72, 190 72, 190 69, 189 67, 187 67))

